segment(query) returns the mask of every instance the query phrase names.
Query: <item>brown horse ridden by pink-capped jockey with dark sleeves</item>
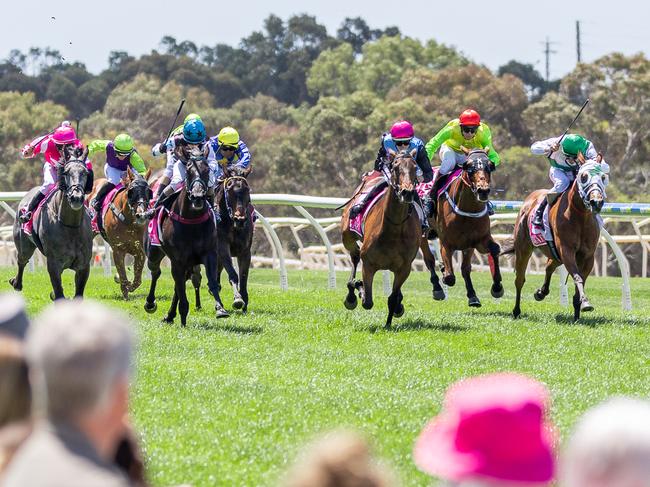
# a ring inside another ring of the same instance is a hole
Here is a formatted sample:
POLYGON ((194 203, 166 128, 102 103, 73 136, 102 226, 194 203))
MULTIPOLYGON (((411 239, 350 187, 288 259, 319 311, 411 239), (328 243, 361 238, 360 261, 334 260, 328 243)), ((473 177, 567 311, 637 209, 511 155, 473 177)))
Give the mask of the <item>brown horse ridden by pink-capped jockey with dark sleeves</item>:
MULTIPOLYGON (((341 218, 343 245, 352 259, 348 294, 343 304, 347 309, 354 309, 357 306, 355 291, 358 290, 362 306, 371 309, 375 273, 383 269, 392 271, 393 290, 388 297, 386 328, 390 327, 393 316, 399 318, 404 314, 401 287, 411 273, 411 263, 418 252, 421 226, 412 204, 417 182, 415 152, 402 151, 396 154, 389 151, 388 163, 384 169, 389 188, 387 194, 366 216, 361 246, 358 244, 359 236, 350 231, 349 212, 354 201, 348 202, 341 218), (363 262, 362 281, 355 279, 359 261, 363 262)), ((366 180, 362 187, 374 182, 376 180, 366 180)))

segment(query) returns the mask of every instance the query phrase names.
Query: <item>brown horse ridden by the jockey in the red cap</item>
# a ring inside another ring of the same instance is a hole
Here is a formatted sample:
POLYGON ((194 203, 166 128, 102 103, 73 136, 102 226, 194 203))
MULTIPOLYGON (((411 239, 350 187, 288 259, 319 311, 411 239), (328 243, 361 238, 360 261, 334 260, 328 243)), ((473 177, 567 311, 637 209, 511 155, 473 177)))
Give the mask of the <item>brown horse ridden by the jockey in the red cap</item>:
MULTIPOLYGON (((451 259, 454 251, 462 251, 463 261, 460 269, 465 280, 468 304, 478 308, 481 306, 481 301, 476 295, 471 278, 472 256, 475 249, 482 254, 488 254, 492 273, 490 289, 492 296, 495 298, 503 296, 503 286, 499 269, 500 248, 490 233, 490 217, 487 208, 490 173, 493 166, 487 157, 487 151, 466 150, 466 153, 467 161, 463 164, 462 175, 440 196, 437 217, 431 219, 429 223, 440 239, 444 265, 443 282, 448 286, 456 283, 451 259)), ((420 249, 427 269, 431 273, 433 298, 442 300, 445 298, 445 293, 436 274, 435 257, 429 248, 426 235, 420 240, 420 249)))

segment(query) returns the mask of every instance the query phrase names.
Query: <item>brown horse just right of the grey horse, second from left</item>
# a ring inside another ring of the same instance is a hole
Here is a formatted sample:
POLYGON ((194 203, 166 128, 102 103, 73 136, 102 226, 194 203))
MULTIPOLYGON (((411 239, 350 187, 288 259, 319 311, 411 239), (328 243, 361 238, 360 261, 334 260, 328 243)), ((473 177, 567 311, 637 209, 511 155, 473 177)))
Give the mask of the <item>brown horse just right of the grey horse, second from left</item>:
MULTIPOLYGON (((147 183, 151 169, 141 176, 127 168, 122 179, 123 189, 119 190, 113 201, 109 204, 106 216, 103 218, 103 235, 113 249, 113 260, 117 269, 116 281, 120 284, 122 296, 128 299, 129 293, 135 291, 142 283, 142 269, 144 267, 144 249, 142 238, 147 222, 146 212, 153 192, 147 183), (126 254, 133 256, 133 282, 129 282, 126 275, 126 254)), ((92 199, 97 189, 101 188, 106 180, 95 181, 93 193, 88 196, 92 199)), ((107 196, 108 198, 108 196, 107 196)), ((101 218, 101 216, 99 216, 101 218)))

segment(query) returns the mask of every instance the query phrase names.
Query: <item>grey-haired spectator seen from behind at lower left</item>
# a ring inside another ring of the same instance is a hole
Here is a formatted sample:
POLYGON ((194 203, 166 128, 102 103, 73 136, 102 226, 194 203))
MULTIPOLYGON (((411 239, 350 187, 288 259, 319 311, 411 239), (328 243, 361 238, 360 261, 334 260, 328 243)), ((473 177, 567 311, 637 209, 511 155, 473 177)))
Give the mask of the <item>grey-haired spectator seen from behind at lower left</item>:
POLYGON ((6 487, 131 485, 112 462, 125 435, 132 342, 122 314, 89 301, 56 303, 37 319, 26 355, 38 422, 6 487))

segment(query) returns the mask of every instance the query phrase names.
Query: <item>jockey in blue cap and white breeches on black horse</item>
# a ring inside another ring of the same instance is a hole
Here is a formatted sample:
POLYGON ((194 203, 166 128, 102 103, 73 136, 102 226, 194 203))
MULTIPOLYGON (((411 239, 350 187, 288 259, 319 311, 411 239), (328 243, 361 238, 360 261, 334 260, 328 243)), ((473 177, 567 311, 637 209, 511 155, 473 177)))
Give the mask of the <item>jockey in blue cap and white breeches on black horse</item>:
MULTIPOLYGON (((173 170, 171 182, 163 190, 159 191, 153 208, 149 210, 150 216, 153 216, 155 214, 155 210, 157 210, 165 200, 171 201, 168 199, 169 196, 180 189, 181 185, 185 182, 185 163, 187 161, 181 160, 174 149, 176 147, 182 146, 198 147, 199 149, 203 149, 206 144, 206 138, 207 136, 203 122, 198 119, 193 119, 188 120, 183 124, 183 132, 180 135, 176 135, 170 138, 164 145, 160 144, 163 145, 163 147, 160 149, 165 150, 168 154, 168 157, 171 157, 173 161, 173 170)), ((210 166, 210 180, 208 182, 208 188, 211 189, 214 187, 213 172, 215 171, 214 166, 216 165, 214 163, 214 153, 212 152, 212 149, 210 149, 208 155, 208 165, 210 166)))

